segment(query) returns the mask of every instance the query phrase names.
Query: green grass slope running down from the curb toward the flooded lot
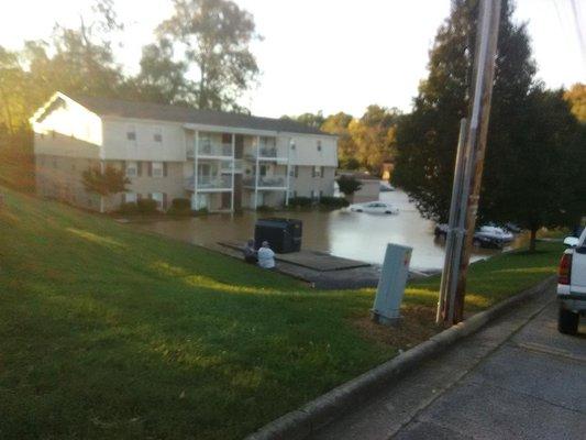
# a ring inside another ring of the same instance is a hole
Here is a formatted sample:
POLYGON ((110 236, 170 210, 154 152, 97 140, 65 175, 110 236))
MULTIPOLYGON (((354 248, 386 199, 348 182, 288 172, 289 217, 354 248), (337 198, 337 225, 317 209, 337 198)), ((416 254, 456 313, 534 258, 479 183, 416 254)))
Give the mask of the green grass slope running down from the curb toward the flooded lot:
MULTIPOLYGON (((310 290, 3 193, 0 438, 237 439, 436 331, 438 278, 408 289, 401 329, 378 328, 373 290, 310 290)), ((468 308, 553 273, 561 248, 541 248, 475 265, 468 308)))

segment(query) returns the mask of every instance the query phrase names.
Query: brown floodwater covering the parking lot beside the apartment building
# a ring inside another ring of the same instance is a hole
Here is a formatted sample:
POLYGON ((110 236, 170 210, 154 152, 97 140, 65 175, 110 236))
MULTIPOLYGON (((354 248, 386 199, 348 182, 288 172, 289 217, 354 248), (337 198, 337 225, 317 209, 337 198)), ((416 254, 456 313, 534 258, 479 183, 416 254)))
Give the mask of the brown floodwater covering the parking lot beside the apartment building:
MULTIPOLYGON (((364 212, 287 211, 263 213, 244 211, 235 215, 210 215, 181 220, 156 220, 136 227, 195 244, 218 241, 244 243, 254 235, 254 223, 262 217, 289 217, 303 221, 302 248, 329 252, 336 256, 382 264, 387 243, 413 248, 411 268, 441 270, 443 241, 433 237, 434 223, 425 220, 409 202, 405 193, 382 193, 380 200, 399 208, 397 216, 364 212)), ((486 258, 499 251, 478 249, 473 261, 486 258)))

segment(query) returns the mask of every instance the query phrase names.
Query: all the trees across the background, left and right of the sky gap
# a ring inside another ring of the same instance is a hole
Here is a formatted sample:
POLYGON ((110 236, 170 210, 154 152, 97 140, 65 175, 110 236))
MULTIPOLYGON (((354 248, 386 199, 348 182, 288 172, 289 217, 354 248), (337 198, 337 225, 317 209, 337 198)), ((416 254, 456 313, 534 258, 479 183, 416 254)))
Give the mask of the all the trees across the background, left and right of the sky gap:
MULTIPOLYGON (((586 188, 577 184, 586 169, 586 86, 544 87, 513 7, 504 0, 478 215, 517 222, 534 235, 586 215, 586 188)), ((336 134, 343 168, 377 174, 392 161, 394 184, 423 216, 445 221, 460 119, 469 108, 477 8, 477 0, 452 0, 410 112, 373 105, 358 118, 284 118, 336 134)), ((0 46, 0 144, 2 136, 29 142, 27 119, 57 89, 246 112, 239 98, 257 81, 250 46, 261 36, 252 14, 234 1, 174 0, 135 75, 124 75, 114 57, 112 36, 124 24, 113 0, 96 0, 92 12, 77 28, 56 25, 48 41, 27 41, 21 51, 0 46)))

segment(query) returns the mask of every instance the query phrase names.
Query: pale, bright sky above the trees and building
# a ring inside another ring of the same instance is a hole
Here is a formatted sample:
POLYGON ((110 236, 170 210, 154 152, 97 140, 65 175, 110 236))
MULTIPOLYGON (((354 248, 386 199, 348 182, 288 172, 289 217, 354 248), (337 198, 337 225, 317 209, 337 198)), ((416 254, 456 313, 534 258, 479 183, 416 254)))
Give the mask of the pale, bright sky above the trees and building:
MULTIPOLYGON (((252 46, 262 70, 241 103, 254 114, 323 111, 361 116, 368 105, 409 111, 450 0, 235 0, 255 19, 252 46)), ((517 0, 528 22, 538 78, 548 87, 586 81, 586 0, 517 0)), ((0 45, 47 38, 56 22, 75 25, 91 0, 1 0, 0 45)), ((170 0, 117 0, 125 23, 118 62, 136 72, 141 47, 173 12, 170 0)))

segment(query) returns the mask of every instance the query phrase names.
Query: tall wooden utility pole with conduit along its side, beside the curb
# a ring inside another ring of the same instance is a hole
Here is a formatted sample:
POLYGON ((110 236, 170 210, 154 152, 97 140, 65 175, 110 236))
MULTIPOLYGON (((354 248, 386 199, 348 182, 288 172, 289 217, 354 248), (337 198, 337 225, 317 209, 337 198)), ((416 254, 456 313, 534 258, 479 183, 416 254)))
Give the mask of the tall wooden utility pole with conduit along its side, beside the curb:
POLYGON ((453 206, 450 210, 447 234, 450 244, 446 243, 446 248, 450 249, 446 249, 438 305, 438 321, 443 320, 446 324, 457 323, 464 317, 466 276, 483 179, 499 21, 500 0, 480 0, 472 106, 468 122, 465 124, 465 135, 463 134, 464 124, 461 125, 460 141, 464 143, 460 146, 465 144, 465 150, 458 153, 458 158, 456 158, 456 167, 460 166, 463 169, 456 169, 454 176, 454 185, 461 183, 462 187, 458 190, 454 188, 452 191, 452 197, 456 199, 452 200, 453 206))

